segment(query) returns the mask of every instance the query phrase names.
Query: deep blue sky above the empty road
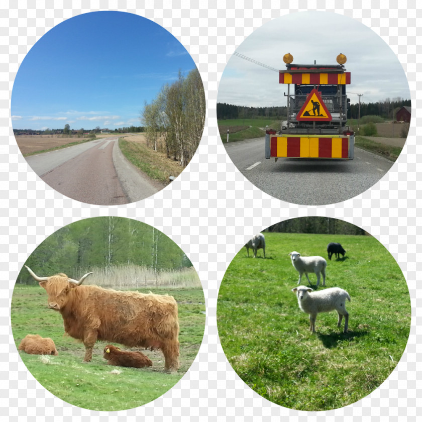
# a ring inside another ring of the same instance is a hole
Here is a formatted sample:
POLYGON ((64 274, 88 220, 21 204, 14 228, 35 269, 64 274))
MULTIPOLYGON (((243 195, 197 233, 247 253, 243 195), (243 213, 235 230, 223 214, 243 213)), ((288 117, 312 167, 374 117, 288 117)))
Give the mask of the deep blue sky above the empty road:
POLYGON ((116 129, 140 126, 161 87, 195 68, 160 25, 126 12, 70 18, 31 48, 16 75, 14 129, 116 129))

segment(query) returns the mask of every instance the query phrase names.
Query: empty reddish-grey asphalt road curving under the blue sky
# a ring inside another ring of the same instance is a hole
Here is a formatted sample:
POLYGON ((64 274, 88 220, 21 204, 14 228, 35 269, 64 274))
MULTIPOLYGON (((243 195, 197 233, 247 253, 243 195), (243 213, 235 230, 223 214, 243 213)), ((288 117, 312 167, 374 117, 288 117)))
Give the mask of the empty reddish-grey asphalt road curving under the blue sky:
POLYGON ((163 188, 126 160, 118 137, 33 155, 26 160, 49 186, 81 202, 126 204, 163 188))

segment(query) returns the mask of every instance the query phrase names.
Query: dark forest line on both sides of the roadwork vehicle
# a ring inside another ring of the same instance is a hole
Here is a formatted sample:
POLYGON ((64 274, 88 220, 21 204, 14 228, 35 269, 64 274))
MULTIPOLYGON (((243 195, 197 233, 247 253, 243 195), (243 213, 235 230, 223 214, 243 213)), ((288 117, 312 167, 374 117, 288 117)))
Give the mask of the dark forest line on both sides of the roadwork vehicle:
MULTIPOLYGON (((410 107, 411 100, 387 98, 383 101, 369 103, 361 101, 360 117, 380 116, 386 120, 393 120, 397 111, 404 105, 410 107)), ((350 111, 347 115, 348 119, 357 119, 359 117, 359 103, 350 104, 350 111)), ((287 119, 287 107, 247 107, 244 105, 217 103, 217 120, 257 118, 287 119)))

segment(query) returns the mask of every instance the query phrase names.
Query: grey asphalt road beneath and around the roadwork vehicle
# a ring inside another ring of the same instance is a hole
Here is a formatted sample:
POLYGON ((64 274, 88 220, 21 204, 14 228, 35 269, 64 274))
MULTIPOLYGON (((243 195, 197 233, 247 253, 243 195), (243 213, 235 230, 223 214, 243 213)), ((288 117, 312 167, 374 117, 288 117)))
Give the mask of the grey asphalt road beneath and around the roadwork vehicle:
POLYGON ((355 147, 354 160, 265 158, 265 138, 224 143, 239 171, 256 187, 286 202, 327 205, 372 187, 394 164, 355 147))

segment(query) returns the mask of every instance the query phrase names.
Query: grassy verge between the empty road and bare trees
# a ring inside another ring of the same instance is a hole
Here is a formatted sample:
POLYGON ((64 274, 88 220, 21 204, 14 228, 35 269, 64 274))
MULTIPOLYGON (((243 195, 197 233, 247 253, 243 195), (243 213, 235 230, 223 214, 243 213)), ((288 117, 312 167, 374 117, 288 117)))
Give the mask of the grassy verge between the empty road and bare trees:
POLYGON ((119 147, 125 157, 150 178, 164 184, 169 183, 169 176, 177 177, 183 170, 165 154, 154 151, 146 145, 119 138, 119 147))

